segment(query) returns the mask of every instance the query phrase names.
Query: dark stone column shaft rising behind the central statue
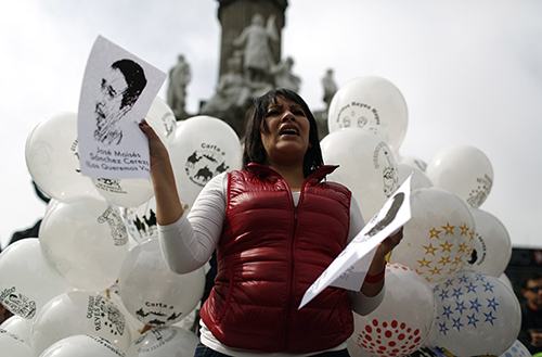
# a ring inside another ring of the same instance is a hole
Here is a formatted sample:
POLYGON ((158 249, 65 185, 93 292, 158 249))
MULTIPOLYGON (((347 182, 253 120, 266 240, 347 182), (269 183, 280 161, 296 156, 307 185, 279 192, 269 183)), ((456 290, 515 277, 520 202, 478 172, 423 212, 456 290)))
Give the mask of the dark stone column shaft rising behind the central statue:
POLYGON ((245 27, 250 25, 254 14, 260 13, 267 21, 275 15, 275 25, 279 40, 270 43, 275 63, 281 61, 282 28, 285 25, 284 13, 288 5, 287 0, 217 0, 220 3, 218 20, 222 26, 222 41, 220 47, 219 78, 228 72, 228 59, 233 55, 233 40, 240 36, 245 27))

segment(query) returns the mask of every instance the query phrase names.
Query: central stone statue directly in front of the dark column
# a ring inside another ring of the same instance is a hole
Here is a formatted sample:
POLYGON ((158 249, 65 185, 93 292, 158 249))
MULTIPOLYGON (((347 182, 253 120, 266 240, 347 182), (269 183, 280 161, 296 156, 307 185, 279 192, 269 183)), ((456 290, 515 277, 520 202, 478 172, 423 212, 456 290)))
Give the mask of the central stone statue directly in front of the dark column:
POLYGON ((243 68, 246 79, 251 82, 270 82, 269 71, 274 64, 269 41, 278 41, 275 16, 268 18, 263 26, 263 16, 259 13, 253 16, 251 24, 233 40, 233 46, 243 47, 243 68))

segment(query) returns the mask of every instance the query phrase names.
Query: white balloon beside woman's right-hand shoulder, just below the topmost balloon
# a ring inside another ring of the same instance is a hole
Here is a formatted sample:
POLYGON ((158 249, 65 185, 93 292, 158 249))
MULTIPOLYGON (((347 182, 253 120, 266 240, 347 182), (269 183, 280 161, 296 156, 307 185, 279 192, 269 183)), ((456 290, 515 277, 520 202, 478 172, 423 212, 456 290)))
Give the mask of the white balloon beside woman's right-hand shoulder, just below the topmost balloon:
POLYGON ((398 189, 393 154, 378 136, 340 129, 320 142, 324 163, 339 165, 327 178, 348 187, 369 221, 398 189))

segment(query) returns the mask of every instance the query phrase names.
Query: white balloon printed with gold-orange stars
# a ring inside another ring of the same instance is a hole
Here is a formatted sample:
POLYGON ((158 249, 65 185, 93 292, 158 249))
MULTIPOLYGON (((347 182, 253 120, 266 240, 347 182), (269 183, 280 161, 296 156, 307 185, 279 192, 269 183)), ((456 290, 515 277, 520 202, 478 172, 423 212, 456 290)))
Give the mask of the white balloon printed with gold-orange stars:
POLYGON ((475 222, 466 203, 437 188, 411 194, 412 218, 389 262, 416 270, 430 283, 459 271, 470 257, 475 222))

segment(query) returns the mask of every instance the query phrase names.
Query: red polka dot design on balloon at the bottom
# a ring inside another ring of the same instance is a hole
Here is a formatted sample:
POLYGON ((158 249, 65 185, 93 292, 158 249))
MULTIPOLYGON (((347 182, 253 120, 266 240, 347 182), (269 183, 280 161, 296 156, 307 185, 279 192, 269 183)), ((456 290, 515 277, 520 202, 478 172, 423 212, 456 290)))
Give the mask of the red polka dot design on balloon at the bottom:
POLYGON ((405 322, 373 319, 358 334, 356 343, 371 354, 400 357, 418 349, 422 336, 420 329, 411 329, 405 322))

